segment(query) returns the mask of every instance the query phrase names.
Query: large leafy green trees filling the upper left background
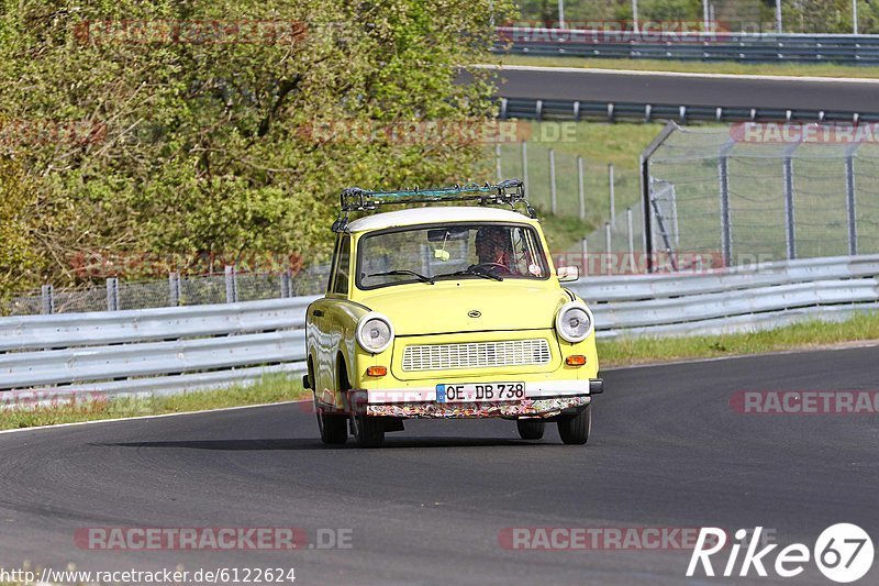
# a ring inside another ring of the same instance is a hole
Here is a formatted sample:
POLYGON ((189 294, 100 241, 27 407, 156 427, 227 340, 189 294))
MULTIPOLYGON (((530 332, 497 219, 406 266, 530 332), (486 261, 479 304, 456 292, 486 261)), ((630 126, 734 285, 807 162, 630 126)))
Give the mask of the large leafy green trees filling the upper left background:
POLYGON ((81 252, 313 256, 327 248, 343 187, 479 178, 482 146, 466 136, 315 141, 310 130, 490 118, 491 74, 455 81, 486 59, 492 16, 511 10, 503 0, 2 0, 0 120, 62 126, 8 153, 40 202, 27 254, 47 259, 44 278, 67 280, 65 259, 81 252), (304 23, 304 34, 281 22, 304 23), (144 23, 152 36, 136 37, 144 23), (247 26, 258 42, 215 42, 254 41, 247 26), (41 220, 59 210, 63 222, 41 220))

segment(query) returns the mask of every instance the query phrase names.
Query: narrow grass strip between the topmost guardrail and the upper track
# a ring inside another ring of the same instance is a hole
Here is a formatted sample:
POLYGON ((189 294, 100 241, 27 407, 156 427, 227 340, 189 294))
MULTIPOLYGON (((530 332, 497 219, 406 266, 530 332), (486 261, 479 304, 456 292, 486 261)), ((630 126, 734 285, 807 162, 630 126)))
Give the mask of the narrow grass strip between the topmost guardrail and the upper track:
POLYGON ((877 78, 879 67, 824 64, 745 64, 734 62, 683 62, 653 59, 599 59, 589 57, 526 57, 504 55, 503 65, 534 67, 583 67, 594 69, 631 69, 635 71, 675 71, 685 74, 767 75, 793 77, 856 77, 877 78))

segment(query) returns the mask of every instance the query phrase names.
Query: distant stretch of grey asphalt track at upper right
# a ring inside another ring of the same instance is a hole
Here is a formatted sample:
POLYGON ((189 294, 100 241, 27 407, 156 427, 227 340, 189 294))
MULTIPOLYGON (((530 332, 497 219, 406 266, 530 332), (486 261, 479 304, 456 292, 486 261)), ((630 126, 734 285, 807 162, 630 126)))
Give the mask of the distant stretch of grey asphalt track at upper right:
POLYGON ((879 81, 504 66, 504 98, 879 112, 879 81))

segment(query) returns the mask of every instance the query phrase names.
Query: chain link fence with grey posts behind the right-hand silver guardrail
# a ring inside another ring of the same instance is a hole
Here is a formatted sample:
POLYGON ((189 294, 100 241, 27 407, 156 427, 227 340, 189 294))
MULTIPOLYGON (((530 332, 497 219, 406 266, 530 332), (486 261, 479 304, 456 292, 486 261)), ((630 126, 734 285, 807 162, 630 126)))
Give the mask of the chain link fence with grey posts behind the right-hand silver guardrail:
POLYGON ((648 247, 672 265, 700 253, 722 266, 879 252, 869 126, 675 129, 646 163, 648 247))

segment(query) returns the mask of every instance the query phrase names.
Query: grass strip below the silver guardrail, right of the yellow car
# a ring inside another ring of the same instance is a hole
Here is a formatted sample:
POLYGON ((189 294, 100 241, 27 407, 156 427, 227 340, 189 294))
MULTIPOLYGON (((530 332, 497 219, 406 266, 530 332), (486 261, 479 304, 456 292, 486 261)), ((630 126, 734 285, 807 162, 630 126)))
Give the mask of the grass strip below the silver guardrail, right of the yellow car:
POLYGON ((808 321, 775 330, 691 338, 638 338, 599 342, 602 367, 808 350, 879 340, 879 313, 841 322, 808 321))

